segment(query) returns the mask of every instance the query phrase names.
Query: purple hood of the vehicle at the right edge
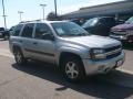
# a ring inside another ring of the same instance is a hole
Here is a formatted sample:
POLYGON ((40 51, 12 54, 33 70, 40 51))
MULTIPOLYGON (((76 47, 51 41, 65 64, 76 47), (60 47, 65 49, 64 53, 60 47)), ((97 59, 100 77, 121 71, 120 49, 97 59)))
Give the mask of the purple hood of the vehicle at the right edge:
POLYGON ((111 30, 112 30, 112 31, 133 30, 133 24, 124 23, 124 24, 120 24, 120 25, 113 26, 111 30))

